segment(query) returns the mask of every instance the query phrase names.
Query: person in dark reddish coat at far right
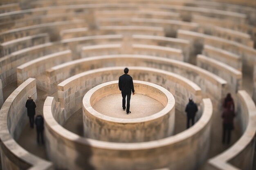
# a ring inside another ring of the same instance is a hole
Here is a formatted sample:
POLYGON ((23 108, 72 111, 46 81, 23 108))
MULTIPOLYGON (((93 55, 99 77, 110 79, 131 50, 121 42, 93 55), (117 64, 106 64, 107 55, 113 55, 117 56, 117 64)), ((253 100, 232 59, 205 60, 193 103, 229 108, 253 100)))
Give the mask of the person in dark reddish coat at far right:
POLYGON ((222 143, 226 142, 226 133, 227 133, 227 144, 230 143, 231 139, 231 130, 234 129, 233 120, 235 117, 235 107, 234 102, 230 94, 227 95, 223 103, 224 111, 222 113, 223 119, 223 133, 222 133, 222 143))

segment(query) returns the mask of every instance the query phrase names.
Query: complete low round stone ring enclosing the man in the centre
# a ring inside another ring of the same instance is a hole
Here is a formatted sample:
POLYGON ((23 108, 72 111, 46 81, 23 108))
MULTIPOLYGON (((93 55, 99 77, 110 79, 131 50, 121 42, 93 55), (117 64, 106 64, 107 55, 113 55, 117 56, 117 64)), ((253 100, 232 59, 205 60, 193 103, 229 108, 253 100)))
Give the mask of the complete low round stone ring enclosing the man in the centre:
MULTIPOLYGON (((139 115, 136 107, 133 108, 130 115, 126 115, 126 111, 122 110, 120 98, 119 103, 111 103, 108 101, 108 108, 115 112, 122 113, 120 117, 110 117, 109 115, 99 113, 93 108, 101 99, 111 97, 112 95, 120 95, 118 81, 107 82, 92 88, 83 98, 83 124, 84 135, 91 139, 113 142, 141 142, 162 139, 171 136, 174 130, 175 120, 175 99, 173 95, 165 88, 156 84, 134 81, 135 95, 147 97, 153 100, 157 105, 162 105, 156 113, 151 111, 150 114, 140 115, 140 117, 132 118, 132 114, 139 115), (119 105, 118 110, 114 110, 114 105, 119 105), (126 118, 131 117, 131 118, 126 118)), ((141 99, 143 99, 141 98, 141 99)), ((112 98, 114 99, 114 98, 112 98)), ((113 102, 116 102, 114 99, 113 102)), ((104 102, 104 101, 103 101, 104 102)), ((132 104, 132 103, 131 103, 132 104)), ((141 108, 147 107, 140 106, 141 108)), ((103 110, 103 109, 101 109, 103 110)), ((131 110, 131 109, 130 109, 131 110)), ((120 116, 120 115, 119 115, 120 116)))

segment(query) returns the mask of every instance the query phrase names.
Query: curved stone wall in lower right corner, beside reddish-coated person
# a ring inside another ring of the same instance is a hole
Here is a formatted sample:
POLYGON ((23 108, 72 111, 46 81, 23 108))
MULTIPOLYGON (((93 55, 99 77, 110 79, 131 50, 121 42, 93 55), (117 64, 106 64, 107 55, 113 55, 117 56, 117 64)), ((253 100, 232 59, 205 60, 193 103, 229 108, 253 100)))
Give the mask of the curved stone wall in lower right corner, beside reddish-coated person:
POLYGON ((246 91, 238 91, 238 101, 237 116, 243 135, 231 148, 209 159, 210 170, 252 169, 256 134, 256 107, 246 91))

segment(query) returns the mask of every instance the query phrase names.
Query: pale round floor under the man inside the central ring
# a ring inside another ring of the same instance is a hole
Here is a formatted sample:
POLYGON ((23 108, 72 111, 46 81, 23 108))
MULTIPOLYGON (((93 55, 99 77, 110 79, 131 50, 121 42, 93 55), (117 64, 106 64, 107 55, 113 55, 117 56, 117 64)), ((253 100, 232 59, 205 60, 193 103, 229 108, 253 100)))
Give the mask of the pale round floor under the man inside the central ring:
POLYGON ((164 108, 164 106, 157 100, 146 95, 136 93, 135 95, 131 95, 130 111, 132 113, 126 115, 126 111, 123 111, 122 108, 121 92, 120 94, 114 94, 102 98, 92 107, 103 115, 122 119, 147 117, 161 111, 164 108))

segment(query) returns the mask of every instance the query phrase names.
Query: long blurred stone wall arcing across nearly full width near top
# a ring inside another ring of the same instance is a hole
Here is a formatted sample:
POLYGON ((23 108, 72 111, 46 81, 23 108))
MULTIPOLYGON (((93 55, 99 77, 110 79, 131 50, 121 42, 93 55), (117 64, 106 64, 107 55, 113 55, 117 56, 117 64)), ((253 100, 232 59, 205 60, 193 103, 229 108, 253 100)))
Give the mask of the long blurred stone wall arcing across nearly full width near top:
MULTIPOLYGON (((95 2, 94 2, 95 3, 95 2)), ((102 2, 101 2, 102 3, 102 2)), ((83 8, 92 8, 92 9, 112 9, 113 7, 115 7, 115 9, 118 10, 124 10, 127 8, 135 8, 138 6, 138 4, 78 4, 78 5, 74 5, 72 4, 72 9, 69 9, 68 5, 67 6, 62 6, 62 7, 54 7, 54 8, 38 8, 37 10, 35 9, 28 9, 28 10, 21 10, 15 13, 14 12, 9 12, 9 15, 3 15, 2 18, 4 18, 5 20, 10 19, 10 17, 16 19, 16 18, 25 18, 27 15, 27 13, 31 13, 32 15, 42 15, 42 13, 65 13, 66 11, 70 11, 70 10, 79 10, 79 9, 83 9, 83 8)), ((141 4, 144 5, 144 4, 141 4)), ((166 10, 166 11, 173 11, 173 12, 181 12, 181 11, 185 11, 186 13, 191 13, 191 14, 199 14, 199 15, 206 15, 206 16, 211 16, 211 17, 216 17, 216 18, 225 18, 227 20, 236 20, 238 22, 245 22, 246 16, 245 14, 241 14, 241 13, 235 13, 235 12, 230 12, 230 11, 222 11, 222 10, 216 10, 216 9, 211 9, 211 10, 205 10, 204 8, 200 8, 200 7, 187 7, 187 6, 176 6, 176 5, 165 5, 165 8, 161 8, 160 4, 147 4, 146 6, 147 8, 151 8, 151 10, 153 11, 153 9, 156 10, 156 7, 158 7, 157 9, 162 9, 166 10), (168 10, 167 10, 168 9, 168 10)), ((142 8, 143 9, 143 8, 142 8)))

